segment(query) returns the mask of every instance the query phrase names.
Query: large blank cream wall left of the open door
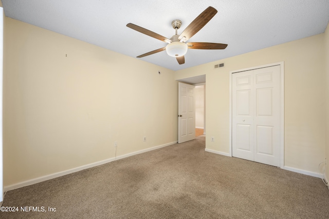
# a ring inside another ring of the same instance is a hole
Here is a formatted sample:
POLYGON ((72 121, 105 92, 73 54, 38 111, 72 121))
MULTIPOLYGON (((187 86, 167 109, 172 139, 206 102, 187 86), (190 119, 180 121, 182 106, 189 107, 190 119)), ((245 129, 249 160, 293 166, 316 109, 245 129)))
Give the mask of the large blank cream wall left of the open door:
POLYGON ((113 158, 115 141, 117 156, 177 141, 173 71, 8 17, 4 31, 4 186, 113 158))

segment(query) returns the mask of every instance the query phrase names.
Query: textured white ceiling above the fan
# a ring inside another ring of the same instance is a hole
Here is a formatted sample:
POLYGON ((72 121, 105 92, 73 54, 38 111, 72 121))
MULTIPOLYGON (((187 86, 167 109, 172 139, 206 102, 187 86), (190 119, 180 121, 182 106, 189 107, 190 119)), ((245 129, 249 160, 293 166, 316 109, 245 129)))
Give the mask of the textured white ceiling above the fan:
POLYGON ((188 42, 228 44, 225 50, 188 50, 185 64, 162 51, 140 58, 172 70, 320 34, 329 22, 328 0, 2 0, 5 15, 115 52, 136 57, 167 44, 126 27, 127 23, 170 38, 208 6, 211 21, 188 42))

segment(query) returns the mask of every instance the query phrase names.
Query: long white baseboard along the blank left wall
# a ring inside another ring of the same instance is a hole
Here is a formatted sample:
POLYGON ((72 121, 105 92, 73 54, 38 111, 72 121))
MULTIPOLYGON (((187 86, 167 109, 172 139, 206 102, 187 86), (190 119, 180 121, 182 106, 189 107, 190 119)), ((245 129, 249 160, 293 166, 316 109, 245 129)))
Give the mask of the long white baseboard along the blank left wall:
POLYGON ((112 162, 112 161, 115 161, 115 160, 119 160, 119 159, 122 159, 122 158, 125 158, 125 157, 133 156, 133 155, 136 155, 136 154, 156 150, 156 149, 163 148, 163 147, 170 146, 170 145, 174 145, 176 143, 177 142, 171 142, 171 143, 168 143, 168 144, 159 145, 159 146, 156 146, 156 147, 136 151, 136 152, 129 153, 129 154, 124 154, 124 155, 121 155, 121 156, 117 156, 116 158, 115 157, 114 158, 108 158, 106 160, 98 161, 98 162, 95 162, 95 163, 92 163, 92 164, 87 164, 87 165, 72 168, 72 169, 69 169, 69 170, 64 170, 64 171, 61 171, 61 172, 52 173, 52 174, 49 174, 49 175, 32 178, 31 180, 27 180, 27 181, 12 184, 12 185, 9 185, 9 186, 5 186, 4 187, 4 192, 10 191, 10 190, 13 190, 13 189, 22 188, 22 187, 25 187, 25 186, 30 186, 30 185, 33 185, 33 184, 36 184, 36 183, 41 183, 43 181, 51 180, 53 178, 57 178, 57 177, 60 177, 60 176, 63 176, 63 175, 67 175, 67 174, 70 174, 70 173, 78 172, 80 170, 84 170, 84 169, 96 167, 96 166, 99 166, 99 165, 103 165, 103 164, 106 164, 106 163, 109 163, 109 162, 112 162))

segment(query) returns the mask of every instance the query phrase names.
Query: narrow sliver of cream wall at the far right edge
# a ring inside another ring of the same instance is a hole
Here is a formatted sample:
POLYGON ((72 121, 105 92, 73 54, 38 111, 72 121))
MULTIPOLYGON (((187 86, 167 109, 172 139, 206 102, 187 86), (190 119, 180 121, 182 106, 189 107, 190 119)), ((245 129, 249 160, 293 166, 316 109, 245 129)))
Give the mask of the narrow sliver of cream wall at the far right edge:
POLYGON ((324 65, 325 65, 325 157, 327 158, 326 163, 326 181, 329 182, 329 24, 324 33, 324 65))

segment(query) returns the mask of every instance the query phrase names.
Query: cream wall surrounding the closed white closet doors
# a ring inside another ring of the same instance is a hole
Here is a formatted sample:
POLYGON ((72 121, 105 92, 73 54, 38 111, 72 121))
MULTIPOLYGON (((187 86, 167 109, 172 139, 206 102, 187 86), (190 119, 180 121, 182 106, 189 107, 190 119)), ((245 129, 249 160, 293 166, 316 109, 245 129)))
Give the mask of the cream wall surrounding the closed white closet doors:
POLYGON ((177 71, 175 79, 207 75, 206 148, 229 153, 229 72, 284 61, 284 165, 318 173, 325 141, 323 40, 319 34, 177 71), (220 62, 225 67, 214 70, 220 62))

